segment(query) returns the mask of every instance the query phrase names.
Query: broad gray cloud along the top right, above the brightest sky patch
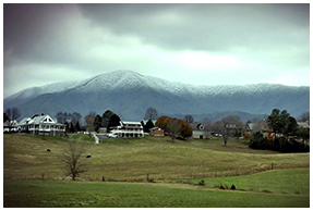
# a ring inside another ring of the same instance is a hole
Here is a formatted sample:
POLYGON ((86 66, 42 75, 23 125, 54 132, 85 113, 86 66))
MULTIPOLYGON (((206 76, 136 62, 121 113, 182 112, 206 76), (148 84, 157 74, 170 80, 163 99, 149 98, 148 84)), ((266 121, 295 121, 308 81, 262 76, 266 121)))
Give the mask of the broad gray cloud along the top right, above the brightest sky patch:
POLYGON ((81 4, 80 10, 117 35, 179 50, 285 46, 297 38, 292 32, 310 25, 308 4, 81 4))

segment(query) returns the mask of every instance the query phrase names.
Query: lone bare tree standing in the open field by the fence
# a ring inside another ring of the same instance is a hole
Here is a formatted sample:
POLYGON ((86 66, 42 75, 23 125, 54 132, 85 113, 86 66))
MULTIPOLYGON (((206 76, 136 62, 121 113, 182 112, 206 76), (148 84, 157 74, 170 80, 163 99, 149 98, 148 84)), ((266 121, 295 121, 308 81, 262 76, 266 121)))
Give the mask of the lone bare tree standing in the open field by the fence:
POLYGON ((85 164, 82 162, 86 146, 77 141, 69 141, 68 148, 64 150, 62 162, 67 176, 71 176, 73 181, 81 174, 86 172, 85 164))

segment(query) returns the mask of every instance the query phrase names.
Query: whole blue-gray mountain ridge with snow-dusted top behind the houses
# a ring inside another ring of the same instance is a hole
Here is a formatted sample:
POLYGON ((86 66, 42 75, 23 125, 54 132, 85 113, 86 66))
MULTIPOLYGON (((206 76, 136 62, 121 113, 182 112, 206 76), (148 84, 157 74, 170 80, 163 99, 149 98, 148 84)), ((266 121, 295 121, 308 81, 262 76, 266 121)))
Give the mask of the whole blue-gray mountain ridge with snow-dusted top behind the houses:
POLYGON ((58 112, 106 110, 123 120, 141 121, 148 107, 159 114, 185 115, 239 111, 269 114, 274 108, 286 109, 293 116, 310 110, 310 87, 273 84, 245 86, 195 86, 116 71, 83 82, 56 83, 24 89, 4 99, 4 110, 17 107, 21 117, 35 113, 55 116, 58 112))

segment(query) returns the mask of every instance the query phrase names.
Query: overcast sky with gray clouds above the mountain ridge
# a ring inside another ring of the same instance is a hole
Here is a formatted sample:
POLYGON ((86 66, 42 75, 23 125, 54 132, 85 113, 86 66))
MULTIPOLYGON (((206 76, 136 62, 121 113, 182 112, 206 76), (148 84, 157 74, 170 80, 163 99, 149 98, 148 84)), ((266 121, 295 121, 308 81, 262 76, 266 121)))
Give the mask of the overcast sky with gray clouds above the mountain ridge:
POLYGON ((310 85, 309 4, 4 4, 3 97, 117 70, 310 85))

